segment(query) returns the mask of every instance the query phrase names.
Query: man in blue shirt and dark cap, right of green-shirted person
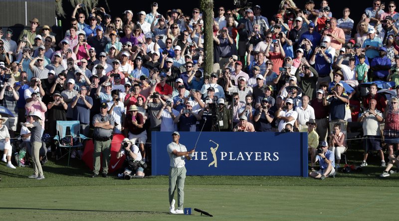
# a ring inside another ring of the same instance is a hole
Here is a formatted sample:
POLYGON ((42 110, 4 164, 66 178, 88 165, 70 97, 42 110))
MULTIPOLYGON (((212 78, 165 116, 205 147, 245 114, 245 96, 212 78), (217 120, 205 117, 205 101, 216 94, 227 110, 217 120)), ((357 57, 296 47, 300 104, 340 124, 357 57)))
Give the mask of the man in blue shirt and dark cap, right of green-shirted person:
POLYGON ((374 70, 373 81, 383 80, 387 81, 389 70, 391 69, 391 59, 387 55, 387 48, 381 47, 378 51, 379 57, 373 58, 370 63, 370 68, 374 70))

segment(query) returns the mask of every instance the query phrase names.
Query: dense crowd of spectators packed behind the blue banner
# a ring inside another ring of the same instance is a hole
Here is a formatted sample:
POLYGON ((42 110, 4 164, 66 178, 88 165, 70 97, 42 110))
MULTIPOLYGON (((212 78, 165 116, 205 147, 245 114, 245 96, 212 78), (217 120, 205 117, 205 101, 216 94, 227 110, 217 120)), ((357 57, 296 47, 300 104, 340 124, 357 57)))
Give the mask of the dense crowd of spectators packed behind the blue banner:
POLYGON ((317 141, 329 141, 338 168, 347 126, 361 122, 362 166, 369 151, 385 166, 382 144, 393 156, 399 143, 399 94, 381 93, 399 83, 396 3, 365 2, 358 23, 350 8, 332 14, 327 0, 318 3, 282 0, 268 16, 264 5, 215 8, 212 73, 203 72, 199 8, 160 14, 153 2, 149 12, 96 7, 86 17, 78 4, 59 42, 33 18, 17 42, 12 29, 0 33, 0 99, 15 116, 3 125, 14 138, 26 113, 38 111, 42 133, 79 120, 91 137, 90 119, 106 103, 114 133, 138 142, 143 159, 151 131, 302 131, 311 134, 312 166, 317 141))

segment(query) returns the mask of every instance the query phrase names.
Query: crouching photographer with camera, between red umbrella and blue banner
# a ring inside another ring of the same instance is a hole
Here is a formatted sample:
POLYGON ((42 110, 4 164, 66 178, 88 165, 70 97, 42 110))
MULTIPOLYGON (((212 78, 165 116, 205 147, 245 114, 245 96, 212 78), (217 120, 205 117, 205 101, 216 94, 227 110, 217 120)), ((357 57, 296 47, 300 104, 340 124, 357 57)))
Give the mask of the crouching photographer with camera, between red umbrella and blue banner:
POLYGON ((128 138, 123 139, 121 149, 119 149, 116 158, 121 158, 123 154, 126 154, 126 159, 122 166, 122 178, 130 180, 131 176, 134 175, 144 177, 144 168, 140 163, 142 156, 139 147, 134 145, 128 138))

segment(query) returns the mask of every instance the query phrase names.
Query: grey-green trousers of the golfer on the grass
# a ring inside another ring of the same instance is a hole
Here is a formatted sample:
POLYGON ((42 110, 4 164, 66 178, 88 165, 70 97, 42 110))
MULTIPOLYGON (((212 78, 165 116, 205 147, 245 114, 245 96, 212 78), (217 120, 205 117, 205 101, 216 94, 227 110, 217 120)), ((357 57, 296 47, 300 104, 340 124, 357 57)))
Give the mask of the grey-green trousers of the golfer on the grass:
POLYGON ((169 168, 169 205, 175 196, 176 186, 178 188, 178 210, 183 210, 184 203, 184 181, 186 180, 186 167, 169 168))

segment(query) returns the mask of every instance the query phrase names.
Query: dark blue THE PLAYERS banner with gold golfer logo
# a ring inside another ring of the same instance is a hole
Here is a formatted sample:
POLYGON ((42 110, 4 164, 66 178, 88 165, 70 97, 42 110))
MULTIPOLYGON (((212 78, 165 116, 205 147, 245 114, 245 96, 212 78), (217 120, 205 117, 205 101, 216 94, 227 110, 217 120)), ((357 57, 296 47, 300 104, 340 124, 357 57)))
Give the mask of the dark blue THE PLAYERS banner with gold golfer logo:
MULTIPOLYGON (((179 132, 194 148, 200 132, 179 132)), ((172 132, 152 132, 152 175, 168 175, 172 132)), ((202 132, 187 175, 308 176, 308 134, 202 132)))

